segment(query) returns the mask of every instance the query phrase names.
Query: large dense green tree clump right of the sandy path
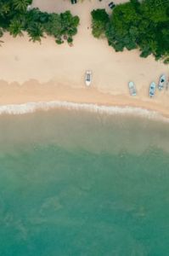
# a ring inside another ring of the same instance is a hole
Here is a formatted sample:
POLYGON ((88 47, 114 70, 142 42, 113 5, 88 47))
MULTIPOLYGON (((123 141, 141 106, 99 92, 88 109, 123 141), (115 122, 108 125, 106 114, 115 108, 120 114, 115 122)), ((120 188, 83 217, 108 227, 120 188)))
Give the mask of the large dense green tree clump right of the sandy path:
POLYGON ((169 0, 130 0, 115 6, 109 19, 104 9, 93 10, 93 36, 103 35, 116 51, 140 49, 169 63, 169 0))

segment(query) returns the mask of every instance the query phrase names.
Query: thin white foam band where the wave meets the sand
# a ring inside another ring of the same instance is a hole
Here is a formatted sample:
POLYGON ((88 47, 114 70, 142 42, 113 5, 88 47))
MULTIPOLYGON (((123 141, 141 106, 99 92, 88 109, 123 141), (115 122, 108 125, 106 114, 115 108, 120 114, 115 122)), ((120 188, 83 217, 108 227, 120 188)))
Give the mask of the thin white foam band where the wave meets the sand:
POLYGON ((54 108, 65 108, 68 110, 84 110, 93 113, 107 113, 107 114, 129 114, 141 117, 147 117, 149 119, 161 119, 169 122, 169 119, 163 117, 161 113, 151 111, 145 108, 133 108, 133 107, 117 107, 117 106, 102 106, 92 103, 76 103, 76 102, 27 102, 24 104, 10 104, 0 105, 0 114, 24 114, 34 113, 37 110, 45 110, 54 108))

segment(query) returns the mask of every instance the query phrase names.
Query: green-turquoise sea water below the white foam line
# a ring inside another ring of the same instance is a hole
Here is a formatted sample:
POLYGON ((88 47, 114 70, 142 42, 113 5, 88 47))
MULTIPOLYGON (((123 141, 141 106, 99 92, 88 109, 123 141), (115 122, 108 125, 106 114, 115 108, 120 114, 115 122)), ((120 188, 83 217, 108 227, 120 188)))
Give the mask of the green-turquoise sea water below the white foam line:
POLYGON ((0 116, 1 256, 168 256, 169 124, 0 116))

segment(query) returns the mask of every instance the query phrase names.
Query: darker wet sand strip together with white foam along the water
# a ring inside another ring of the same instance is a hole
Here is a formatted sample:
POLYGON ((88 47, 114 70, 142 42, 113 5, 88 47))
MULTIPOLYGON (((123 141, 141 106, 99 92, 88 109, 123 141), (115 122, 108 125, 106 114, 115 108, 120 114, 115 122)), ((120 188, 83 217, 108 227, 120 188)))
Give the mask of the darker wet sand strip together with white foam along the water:
POLYGON ((93 113, 129 114, 169 122, 169 110, 155 99, 142 101, 138 96, 111 95, 95 88, 75 89, 54 82, 25 84, 0 82, 0 114, 25 114, 55 108, 93 113), (12 86, 12 88, 11 88, 12 86))

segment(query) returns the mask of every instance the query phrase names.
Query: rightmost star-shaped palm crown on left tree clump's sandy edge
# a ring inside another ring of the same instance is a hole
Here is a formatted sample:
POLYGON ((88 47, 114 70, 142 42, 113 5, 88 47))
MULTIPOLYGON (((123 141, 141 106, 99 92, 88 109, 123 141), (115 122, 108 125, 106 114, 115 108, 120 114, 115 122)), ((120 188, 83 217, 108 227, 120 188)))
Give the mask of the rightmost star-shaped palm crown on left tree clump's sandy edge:
POLYGON ((32 42, 41 42, 41 38, 43 38, 44 29, 40 23, 33 23, 26 30, 28 35, 30 36, 30 41, 32 42))

